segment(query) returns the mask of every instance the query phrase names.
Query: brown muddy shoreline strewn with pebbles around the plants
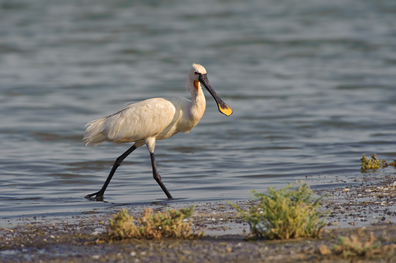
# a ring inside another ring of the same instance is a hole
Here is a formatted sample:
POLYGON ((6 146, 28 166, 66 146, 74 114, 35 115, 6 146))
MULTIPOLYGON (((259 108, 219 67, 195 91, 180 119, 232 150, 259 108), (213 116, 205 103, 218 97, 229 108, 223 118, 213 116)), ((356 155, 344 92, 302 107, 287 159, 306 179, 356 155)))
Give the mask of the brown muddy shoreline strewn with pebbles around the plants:
MULTIPOLYGON (((319 239, 246 241, 249 226, 227 202, 198 203, 192 216, 196 229, 205 230, 198 240, 124 240, 95 242, 106 231, 111 212, 87 211, 72 218, 24 218, 0 230, 0 261, 8 262, 350 262, 326 254, 337 236, 373 233, 382 249, 362 262, 393 262, 396 254, 396 175, 363 174, 354 186, 314 190, 331 194, 320 210, 329 212, 328 225, 319 239)), ((191 204, 185 204, 189 206, 191 204)), ((249 207, 249 201, 238 206, 249 207)), ((176 207, 177 208, 177 207, 176 207)), ((140 216, 144 208, 134 209, 140 216)), ((160 208, 159 208, 160 209, 160 208)))

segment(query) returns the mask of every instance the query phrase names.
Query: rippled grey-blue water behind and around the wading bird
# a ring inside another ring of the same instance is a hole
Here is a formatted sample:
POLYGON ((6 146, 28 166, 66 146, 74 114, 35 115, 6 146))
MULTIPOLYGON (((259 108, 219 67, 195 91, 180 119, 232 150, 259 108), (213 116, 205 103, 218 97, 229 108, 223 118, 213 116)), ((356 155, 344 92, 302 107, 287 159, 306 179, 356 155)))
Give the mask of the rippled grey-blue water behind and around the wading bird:
MULTIPOLYGON (((362 178, 359 158, 396 157, 396 2, 0 1, 0 216, 246 200, 307 179, 362 178), (126 102, 186 96, 200 63, 207 96, 189 134, 145 147, 81 142, 84 125, 126 102)), ((387 172, 393 172, 387 168, 387 172)), ((337 180, 339 179, 339 180, 337 180)))

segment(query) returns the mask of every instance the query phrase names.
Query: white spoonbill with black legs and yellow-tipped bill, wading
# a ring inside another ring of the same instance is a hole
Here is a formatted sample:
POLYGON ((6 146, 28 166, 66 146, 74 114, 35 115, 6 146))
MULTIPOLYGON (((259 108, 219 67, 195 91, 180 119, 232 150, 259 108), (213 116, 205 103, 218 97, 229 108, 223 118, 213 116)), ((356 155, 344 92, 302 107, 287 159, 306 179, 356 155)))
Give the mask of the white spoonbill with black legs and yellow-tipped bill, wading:
POLYGON ((191 100, 175 96, 150 98, 130 104, 114 114, 87 124, 89 127, 83 138, 86 146, 95 147, 104 141, 117 144, 135 142, 131 148, 116 159, 103 187, 96 193, 87 195, 87 198, 95 195, 95 198, 102 199, 117 167, 132 151, 146 144, 150 152, 153 177, 168 199, 172 199, 157 172, 154 159, 155 141, 169 138, 178 132, 188 133, 197 125, 206 106, 200 83, 216 100, 219 111, 227 116, 231 115, 231 108, 217 96, 209 84, 205 68, 199 64, 192 64, 186 82, 187 88, 191 91, 191 100))

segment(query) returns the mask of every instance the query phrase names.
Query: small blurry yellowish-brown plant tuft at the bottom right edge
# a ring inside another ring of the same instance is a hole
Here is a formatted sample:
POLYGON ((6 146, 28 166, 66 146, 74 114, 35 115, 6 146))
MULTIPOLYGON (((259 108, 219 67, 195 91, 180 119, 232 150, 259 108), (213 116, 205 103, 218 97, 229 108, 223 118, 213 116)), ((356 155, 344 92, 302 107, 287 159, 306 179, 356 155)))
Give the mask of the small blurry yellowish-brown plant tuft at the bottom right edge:
POLYGON ((338 236, 339 243, 333 246, 337 254, 342 254, 344 257, 365 256, 368 252, 381 247, 381 242, 375 242, 373 233, 365 235, 351 234, 349 237, 338 236))

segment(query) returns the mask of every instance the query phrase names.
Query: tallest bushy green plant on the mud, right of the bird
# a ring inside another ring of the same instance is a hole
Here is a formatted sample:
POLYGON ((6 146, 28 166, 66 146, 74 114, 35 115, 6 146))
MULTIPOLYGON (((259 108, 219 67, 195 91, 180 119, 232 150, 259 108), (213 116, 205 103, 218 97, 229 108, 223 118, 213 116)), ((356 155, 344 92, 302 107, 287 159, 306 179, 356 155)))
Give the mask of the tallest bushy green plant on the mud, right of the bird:
POLYGON ((322 197, 311 203, 313 192, 309 185, 298 181, 295 184, 289 184, 279 191, 269 187, 268 194, 252 191, 251 199, 255 195, 260 203, 254 206, 252 201, 247 212, 236 204, 229 203, 249 223, 251 233, 255 237, 269 239, 319 237, 320 231, 326 225, 326 216, 320 219, 322 214, 316 211, 322 197), (295 184, 300 186, 292 190, 295 184))

